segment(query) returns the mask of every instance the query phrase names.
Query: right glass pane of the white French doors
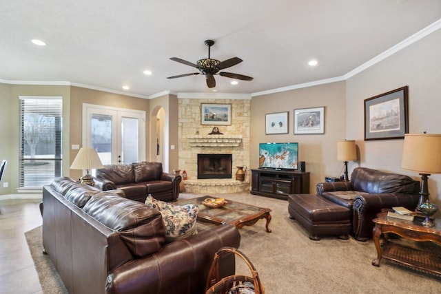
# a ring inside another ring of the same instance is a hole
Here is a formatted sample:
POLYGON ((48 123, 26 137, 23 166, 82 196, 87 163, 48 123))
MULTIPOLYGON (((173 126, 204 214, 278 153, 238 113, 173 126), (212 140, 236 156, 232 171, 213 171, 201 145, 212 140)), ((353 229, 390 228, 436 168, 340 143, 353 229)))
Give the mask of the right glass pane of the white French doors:
POLYGON ((123 164, 138 162, 138 118, 121 118, 121 144, 123 164))

